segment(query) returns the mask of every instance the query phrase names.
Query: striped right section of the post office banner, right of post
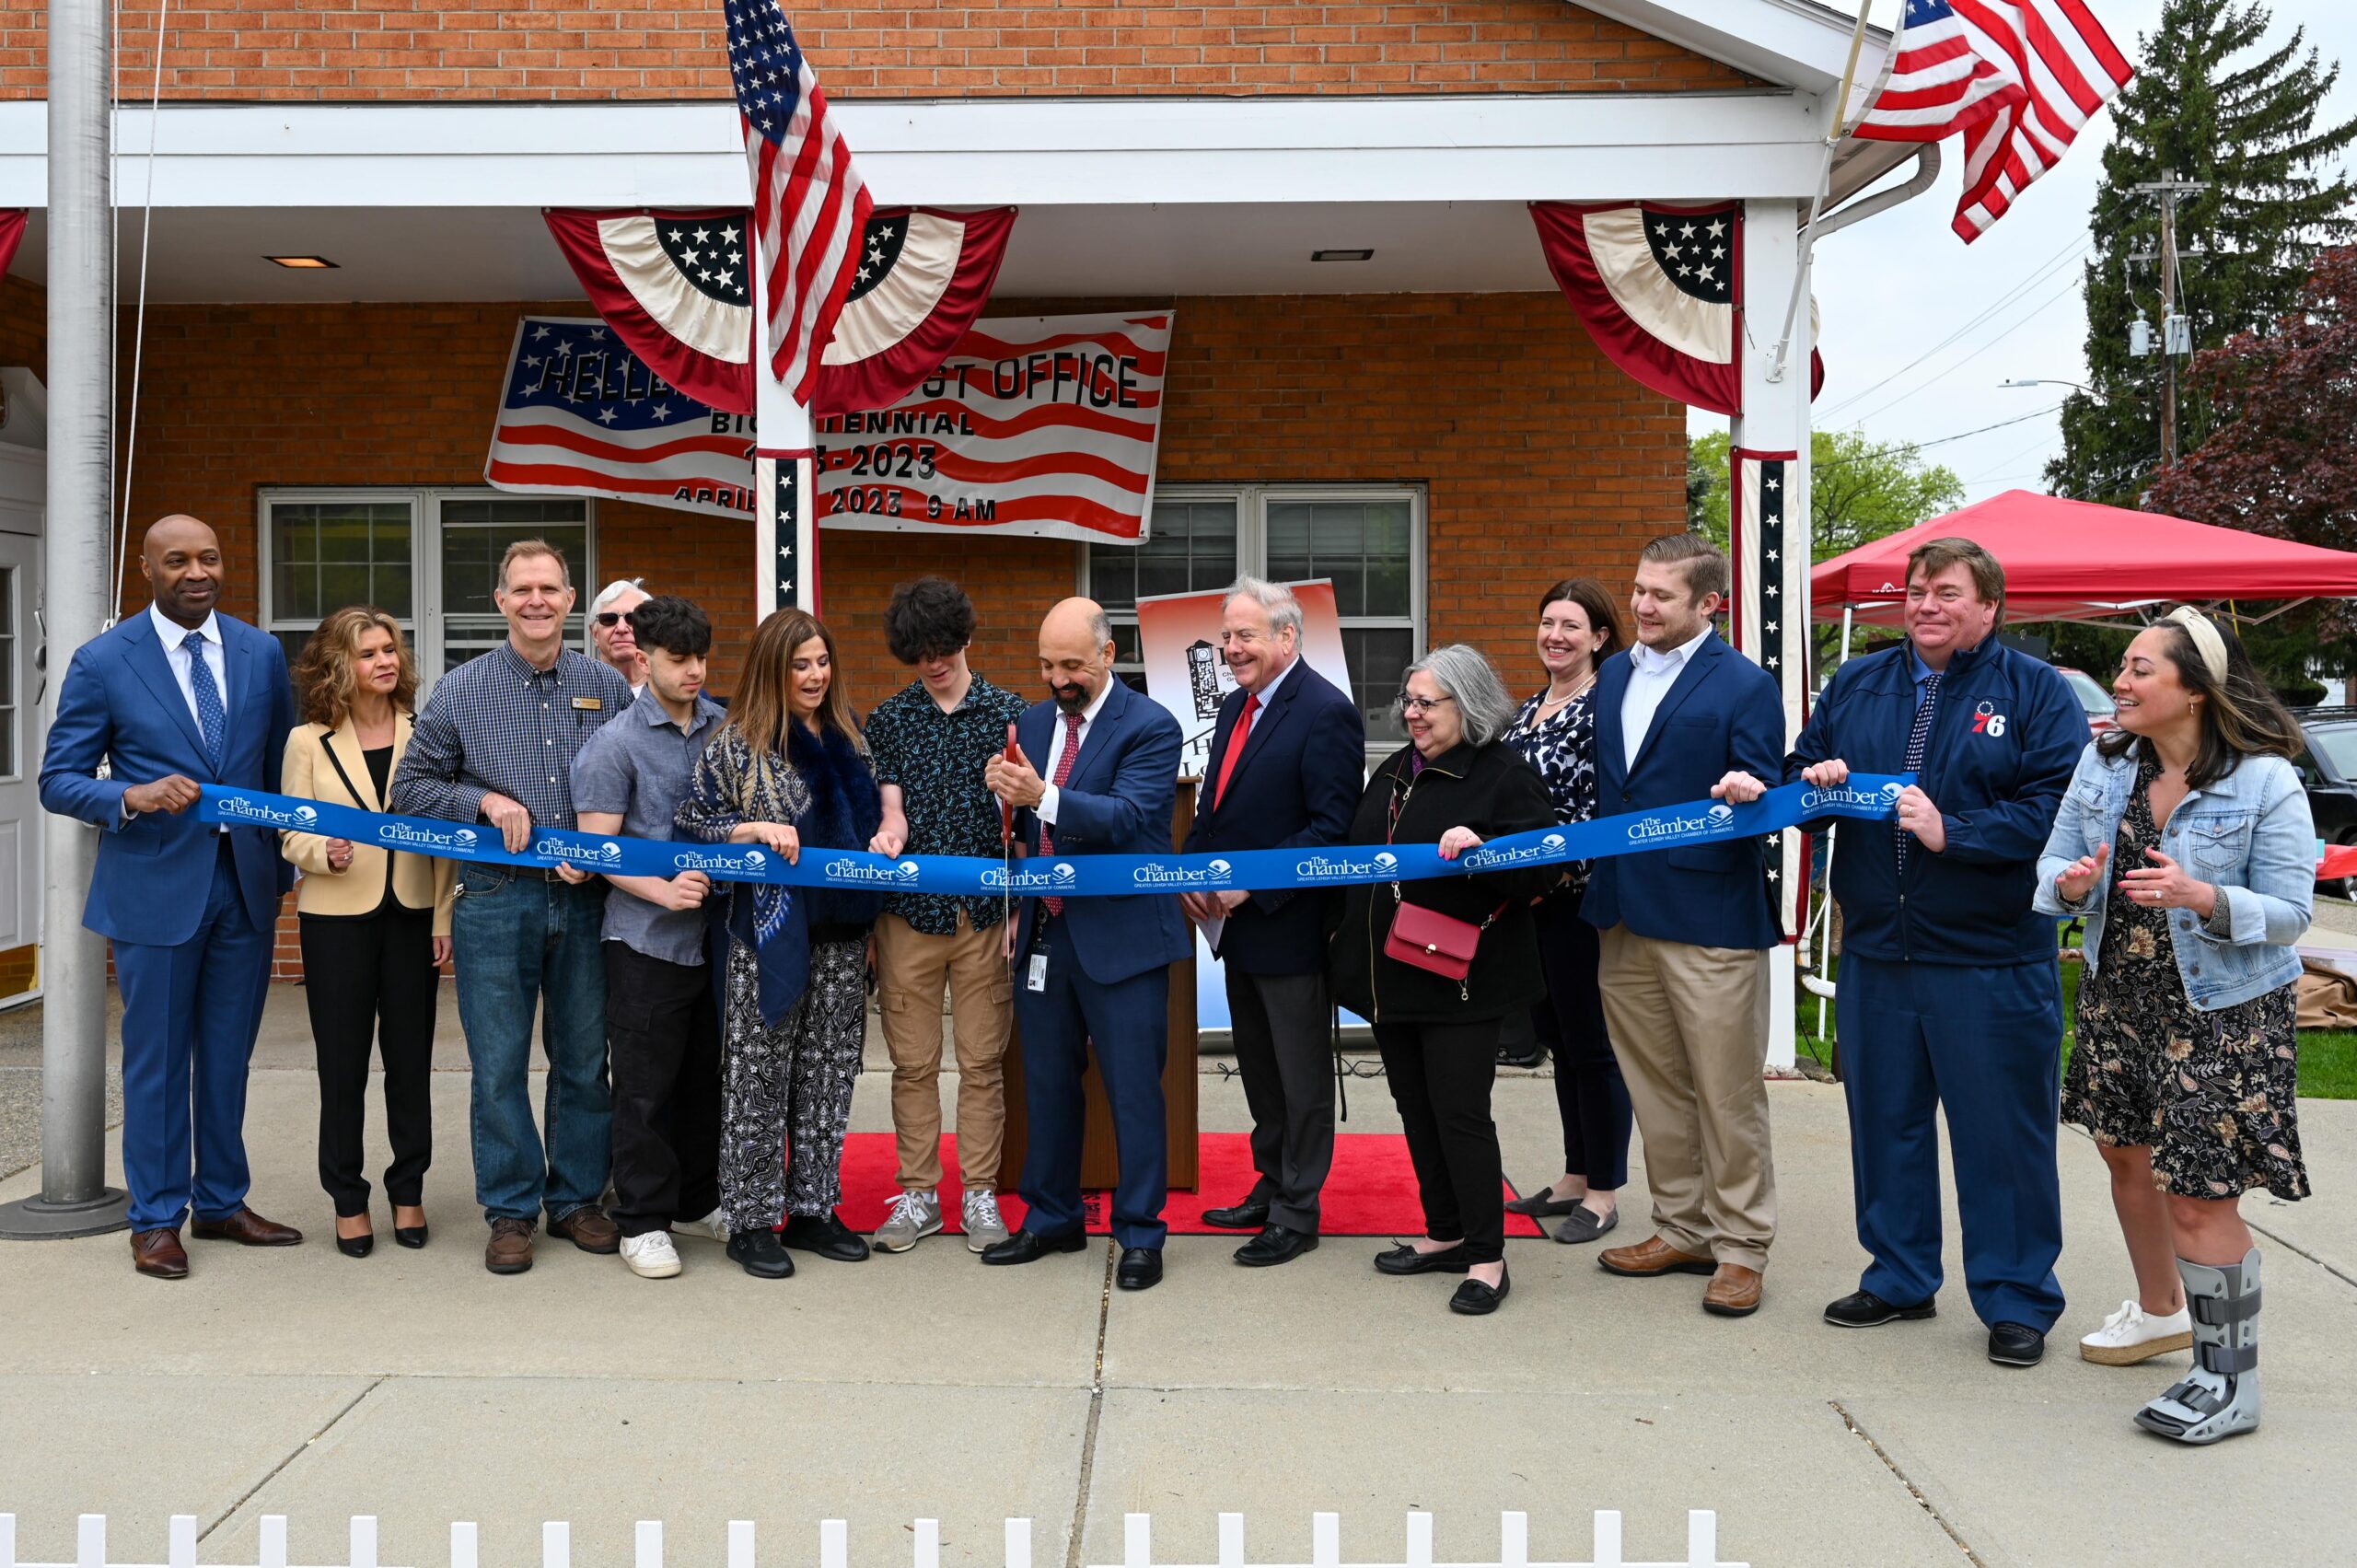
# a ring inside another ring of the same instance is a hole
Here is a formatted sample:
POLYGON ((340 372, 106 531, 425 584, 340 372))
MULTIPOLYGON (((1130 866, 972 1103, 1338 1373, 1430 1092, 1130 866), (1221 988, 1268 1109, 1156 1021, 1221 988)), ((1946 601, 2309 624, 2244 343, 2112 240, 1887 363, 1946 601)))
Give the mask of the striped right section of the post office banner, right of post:
POLYGON ((978 321, 891 408, 818 420, 818 521, 1136 545, 1171 311, 978 321))

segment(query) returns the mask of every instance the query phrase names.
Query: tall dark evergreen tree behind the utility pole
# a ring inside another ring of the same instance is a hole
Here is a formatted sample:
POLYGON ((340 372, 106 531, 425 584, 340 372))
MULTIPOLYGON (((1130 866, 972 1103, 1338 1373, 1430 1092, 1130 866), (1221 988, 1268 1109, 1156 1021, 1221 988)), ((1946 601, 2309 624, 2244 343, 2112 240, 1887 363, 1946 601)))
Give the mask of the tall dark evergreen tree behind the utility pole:
MULTIPOLYGON (((2319 248, 2357 236, 2345 172, 2322 165, 2357 139, 2357 120, 2317 127, 2317 104, 2341 78, 2293 28, 2267 45, 2258 0, 2168 0, 2140 40, 2143 64, 2112 99, 2086 262, 2086 363, 2098 396, 2062 406, 2062 455, 2046 465, 2055 495, 2133 507, 2159 467, 2161 358, 2128 356, 2128 323, 2152 323, 2159 349, 2159 203, 2133 186, 2176 170, 2209 189, 2178 200, 2178 292, 2194 349, 2265 332, 2293 309, 2319 248), (2206 255, 2187 255, 2201 250, 2206 255)), ((2209 436, 2209 398, 2178 365, 2178 450, 2209 436)))

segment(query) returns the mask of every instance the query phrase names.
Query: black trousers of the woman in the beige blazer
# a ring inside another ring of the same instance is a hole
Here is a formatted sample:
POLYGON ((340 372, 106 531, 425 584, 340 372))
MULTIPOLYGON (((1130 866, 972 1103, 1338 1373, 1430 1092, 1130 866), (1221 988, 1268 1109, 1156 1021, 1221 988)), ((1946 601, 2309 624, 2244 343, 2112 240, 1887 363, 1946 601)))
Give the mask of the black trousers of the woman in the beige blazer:
POLYGON ((434 910, 302 917, 304 1002, 318 1052, 318 1184, 342 1217, 368 1212, 368 1056, 384 1056, 384 1195, 424 1203, 434 1162, 434 910))

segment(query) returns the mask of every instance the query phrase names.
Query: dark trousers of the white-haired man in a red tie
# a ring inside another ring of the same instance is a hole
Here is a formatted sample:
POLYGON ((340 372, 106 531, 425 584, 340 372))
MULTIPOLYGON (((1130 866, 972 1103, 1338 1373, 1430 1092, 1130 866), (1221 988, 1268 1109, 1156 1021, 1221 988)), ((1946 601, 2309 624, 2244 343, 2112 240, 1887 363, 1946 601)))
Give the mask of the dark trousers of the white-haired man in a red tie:
POLYGON ((1240 974, 1228 964, 1235 1068, 1252 1108, 1252 1200, 1270 1224, 1318 1233, 1334 1167, 1332 1012, 1322 974, 1240 974))

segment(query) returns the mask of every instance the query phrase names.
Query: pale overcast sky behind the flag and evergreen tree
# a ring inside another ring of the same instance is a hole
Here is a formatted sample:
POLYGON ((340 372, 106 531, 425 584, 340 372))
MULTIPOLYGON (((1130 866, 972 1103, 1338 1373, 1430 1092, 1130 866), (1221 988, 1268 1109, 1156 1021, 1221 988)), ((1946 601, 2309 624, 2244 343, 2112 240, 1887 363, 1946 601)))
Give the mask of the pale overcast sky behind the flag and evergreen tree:
MULTIPOLYGON (((2140 35, 2159 21, 2161 0, 2091 2, 2121 52, 2131 61, 2143 59, 2140 35)), ((1874 21, 1893 21, 1897 5, 1900 0, 1871 0, 1874 21)), ((2324 113, 2357 113, 2357 5, 2275 0, 2272 9, 2270 38, 2286 38, 2293 26, 2305 26, 2308 40, 2326 61, 2343 61, 2324 113)), ((1963 163, 1956 139, 1940 146, 1940 182, 1930 191, 1824 238, 1815 278, 1824 314, 1820 429, 1857 427, 1879 441, 1930 443, 1999 420, 2039 415, 1963 441, 1942 441, 1923 457, 1954 469, 1966 483, 1966 500, 2011 488, 2044 490, 2041 469, 2060 450, 2060 434, 2058 417, 2039 410, 2051 410, 2067 389, 1999 389, 1999 382, 2086 375, 2081 262, 2086 217, 2102 174, 2100 149, 2110 137, 2112 116, 2105 108, 2069 156, 1973 245, 1949 231, 1963 163), (2006 304, 1999 307, 2001 299, 2006 304), (1989 307, 1999 309, 1968 325, 1989 307), (1959 330, 1963 332, 1954 344, 1923 358, 1959 330), (1921 363, 1912 363, 1919 358, 1921 363)), ((1725 420, 1716 415, 1697 413, 1692 420, 1695 431, 1723 427, 1725 420)))

